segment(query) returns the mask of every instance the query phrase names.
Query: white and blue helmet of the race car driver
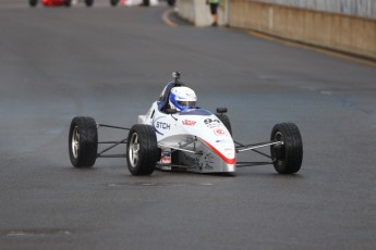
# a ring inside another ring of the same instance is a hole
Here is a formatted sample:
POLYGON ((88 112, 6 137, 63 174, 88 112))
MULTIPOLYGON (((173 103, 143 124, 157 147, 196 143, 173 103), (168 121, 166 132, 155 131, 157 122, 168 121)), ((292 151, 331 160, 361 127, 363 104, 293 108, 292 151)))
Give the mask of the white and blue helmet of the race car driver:
POLYGON ((184 86, 173 87, 169 96, 171 109, 183 111, 196 108, 197 97, 193 89, 184 86))

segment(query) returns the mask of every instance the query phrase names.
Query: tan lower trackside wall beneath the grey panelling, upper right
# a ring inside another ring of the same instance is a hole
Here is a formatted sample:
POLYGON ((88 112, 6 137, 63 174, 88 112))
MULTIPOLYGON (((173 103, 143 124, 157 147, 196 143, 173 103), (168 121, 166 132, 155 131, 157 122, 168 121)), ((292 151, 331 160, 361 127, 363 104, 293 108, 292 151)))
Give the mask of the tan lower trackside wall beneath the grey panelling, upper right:
POLYGON ((376 59, 376 21, 254 0, 232 0, 229 24, 376 59))

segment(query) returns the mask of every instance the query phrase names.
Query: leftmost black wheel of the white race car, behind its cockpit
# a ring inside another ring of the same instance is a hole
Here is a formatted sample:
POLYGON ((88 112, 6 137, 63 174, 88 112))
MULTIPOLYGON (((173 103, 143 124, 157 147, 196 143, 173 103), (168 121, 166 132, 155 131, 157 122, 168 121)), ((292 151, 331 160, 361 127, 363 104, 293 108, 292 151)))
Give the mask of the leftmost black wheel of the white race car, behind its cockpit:
POLYGON ((69 155, 75 167, 92 167, 97 159, 98 130, 94 118, 76 116, 69 130, 69 155))

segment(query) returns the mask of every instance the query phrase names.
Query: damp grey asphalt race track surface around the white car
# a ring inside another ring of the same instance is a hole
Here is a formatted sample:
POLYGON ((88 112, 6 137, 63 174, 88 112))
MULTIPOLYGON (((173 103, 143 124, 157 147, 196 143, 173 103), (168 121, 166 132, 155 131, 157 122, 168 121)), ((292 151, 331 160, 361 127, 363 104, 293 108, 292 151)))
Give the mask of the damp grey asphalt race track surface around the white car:
POLYGON ((0 9, 0 249, 375 249, 375 67, 228 28, 170 27, 166 10, 0 9), (296 123, 301 171, 71 166, 72 117, 130 127, 172 71, 201 107, 229 109, 240 141, 296 123))

